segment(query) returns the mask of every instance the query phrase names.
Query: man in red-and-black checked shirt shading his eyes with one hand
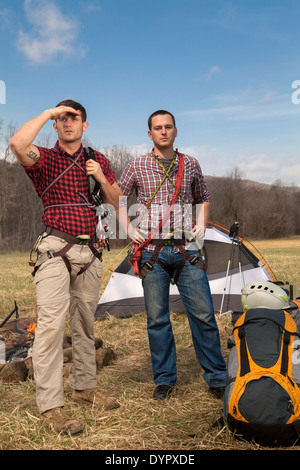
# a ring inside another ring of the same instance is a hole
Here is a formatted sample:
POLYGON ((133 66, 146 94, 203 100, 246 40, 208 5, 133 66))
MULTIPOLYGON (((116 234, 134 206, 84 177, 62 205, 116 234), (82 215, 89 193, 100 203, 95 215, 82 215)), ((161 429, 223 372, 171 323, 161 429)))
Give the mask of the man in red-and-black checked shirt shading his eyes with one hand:
POLYGON ((102 277, 101 251, 95 232, 98 217, 88 191, 88 176, 100 183, 103 200, 118 207, 121 191, 109 161, 99 152, 85 161, 86 110, 64 100, 23 124, 10 141, 17 160, 43 202, 46 229, 38 246, 34 281, 38 322, 33 348, 37 404, 58 432, 75 434, 82 425, 64 411, 63 333, 70 311, 73 347, 73 399, 116 408, 117 401, 97 388, 94 312, 102 277), (49 121, 58 141, 47 149, 33 144, 49 121))

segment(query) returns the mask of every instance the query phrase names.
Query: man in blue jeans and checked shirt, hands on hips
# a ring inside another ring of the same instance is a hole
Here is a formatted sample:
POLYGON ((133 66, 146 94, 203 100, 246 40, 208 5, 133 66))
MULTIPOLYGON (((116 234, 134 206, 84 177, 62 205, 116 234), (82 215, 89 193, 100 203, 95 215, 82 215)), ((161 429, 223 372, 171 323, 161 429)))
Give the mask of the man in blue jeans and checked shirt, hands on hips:
POLYGON ((167 398, 177 379, 169 311, 170 278, 183 300, 203 377, 214 395, 221 397, 226 385, 226 365, 202 255, 193 241, 204 237, 209 191, 198 161, 174 151, 177 136, 174 116, 168 111, 156 111, 150 116, 148 127, 148 136, 154 143, 152 153, 132 160, 118 185, 124 195, 120 222, 135 242, 132 262, 136 266, 139 260, 144 288, 156 385, 154 398, 167 398), (139 205, 134 225, 125 213, 124 201, 133 191, 139 205), (190 209, 195 205, 198 210, 193 225, 190 209))

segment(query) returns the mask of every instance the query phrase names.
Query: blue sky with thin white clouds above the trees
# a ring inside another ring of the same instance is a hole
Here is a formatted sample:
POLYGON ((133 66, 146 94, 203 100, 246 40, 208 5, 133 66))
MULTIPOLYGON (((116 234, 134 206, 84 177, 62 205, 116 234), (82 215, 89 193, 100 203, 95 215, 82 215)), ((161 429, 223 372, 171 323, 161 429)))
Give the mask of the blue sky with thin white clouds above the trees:
POLYGON ((300 186, 299 24, 299 0, 0 0, 0 119, 73 98, 93 145, 141 153, 168 109, 204 174, 300 186))

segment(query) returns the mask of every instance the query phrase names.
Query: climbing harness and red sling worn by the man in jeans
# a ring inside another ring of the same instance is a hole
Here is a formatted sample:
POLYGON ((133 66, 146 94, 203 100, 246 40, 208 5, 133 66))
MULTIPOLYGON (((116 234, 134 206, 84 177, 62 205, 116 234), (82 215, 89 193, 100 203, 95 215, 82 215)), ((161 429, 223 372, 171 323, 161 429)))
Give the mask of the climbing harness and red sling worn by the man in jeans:
POLYGON ((175 186, 175 191, 174 191, 174 195, 172 197, 170 207, 168 208, 167 212, 165 213, 163 219, 160 220, 160 223, 159 223, 158 227, 153 232, 151 232, 149 234, 148 238, 143 243, 141 243, 140 245, 138 245, 137 243, 134 244, 134 254, 131 258, 131 264, 133 265, 135 275, 139 275, 141 279, 143 279, 147 275, 147 273, 153 269, 154 263, 157 263, 161 268, 163 268, 169 274, 169 276, 171 278, 171 273, 169 272, 167 266, 158 258, 158 256, 159 256, 159 253, 160 253, 162 247, 164 247, 166 245, 170 245, 170 244, 172 244, 174 246, 178 246, 178 249, 179 249, 180 253, 182 254, 182 260, 181 260, 180 265, 177 268, 174 280, 171 280, 172 283, 176 284, 186 260, 188 260, 191 264, 193 264, 195 266, 198 266, 201 269, 205 269, 205 262, 204 262, 204 259, 200 259, 196 255, 195 256, 190 256, 190 254, 186 251, 186 249, 183 246, 185 244, 185 239, 184 238, 180 238, 180 239, 173 238, 172 240, 170 240, 170 239, 167 239, 167 240, 165 240, 165 239, 155 239, 154 238, 155 235, 161 230, 161 228, 164 225, 165 221, 169 217, 169 215, 170 215, 170 213, 173 209, 173 206, 176 203, 178 197, 180 196, 181 199, 183 200, 183 197, 180 194, 180 187, 181 187, 182 180, 183 180, 183 175, 184 175, 184 156, 183 156, 183 154, 179 153, 176 150, 174 158, 173 158, 173 160, 172 160, 172 162, 171 162, 171 164, 170 164, 170 166, 167 170, 159 163, 159 161, 153 156, 153 154, 151 154, 151 156, 162 167, 162 169, 164 171, 164 177, 161 180, 158 187, 156 188, 154 194, 151 196, 151 199, 150 199, 150 201, 148 202, 148 204, 146 206, 146 210, 150 207, 150 204, 152 203, 152 201, 154 199, 154 196, 158 193, 159 189, 162 187, 163 183, 167 179, 169 179, 171 181, 171 183, 175 186), (170 178, 170 171, 171 171, 171 168, 174 165, 176 154, 179 157, 179 164, 178 164, 178 172, 177 172, 177 177, 176 177, 176 183, 174 185, 173 180, 171 180, 171 178, 170 178), (155 245, 153 256, 149 261, 146 261, 143 264, 141 269, 139 269, 139 262, 142 258, 142 250, 144 248, 146 248, 150 244, 150 242, 151 242, 151 244, 155 245))

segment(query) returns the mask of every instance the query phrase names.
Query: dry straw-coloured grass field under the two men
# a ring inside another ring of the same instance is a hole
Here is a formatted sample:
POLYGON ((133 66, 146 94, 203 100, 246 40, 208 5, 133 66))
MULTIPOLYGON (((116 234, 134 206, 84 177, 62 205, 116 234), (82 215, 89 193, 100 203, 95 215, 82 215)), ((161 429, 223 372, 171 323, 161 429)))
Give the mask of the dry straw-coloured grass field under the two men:
MULTIPOLYGON (((278 280, 300 286, 300 237, 254 244, 278 280)), ((116 253, 115 250, 105 252, 104 272, 116 253)), ((35 289, 27 261, 28 253, 0 255, 0 320, 14 308, 14 301, 20 317, 35 315, 35 289)), ((66 377, 65 408, 84 424, 84 432, 73 437, 61 436, 51 432, 40 419, 33 380, 0 383, 0 449, 166 450, 173 453, 263 449, 254 442, 237 441, 225 427, 212 428, 222 416, 222 403, 211 396, 202 378, 186 316, 172 315, 172 321, 178 353, 178 383, 169 400, 158 403, 152 399, 154 385, 145 315, 97 321, 96 336, 102 338, 104 347, 111 347, 117 355, 113 363, 98 373, 99 387, 103 393, 117 396, 120 408, 103 411, 73 403, 72 378, 66 377)), ((218 318, 218 323, 223 354, 227 357, 230 319, 218 318)), ((299 450, 300 446, 295 449, 299 450)))

